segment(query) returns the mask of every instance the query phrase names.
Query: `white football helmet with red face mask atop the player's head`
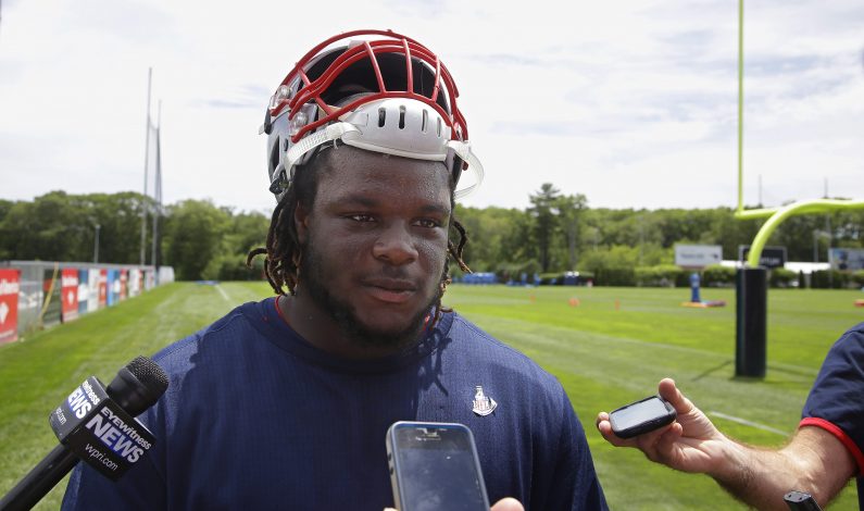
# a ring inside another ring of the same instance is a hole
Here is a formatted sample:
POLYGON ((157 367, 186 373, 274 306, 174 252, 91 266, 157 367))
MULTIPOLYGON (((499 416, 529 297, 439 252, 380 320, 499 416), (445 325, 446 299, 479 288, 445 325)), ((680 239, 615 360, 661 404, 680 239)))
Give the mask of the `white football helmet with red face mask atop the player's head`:
POLYGON ((341 141, 368 151, 446 162, 464 197, 483 180, 456 107, 459 91, 435 53, 391 30, 354 30, 310 50, 271 97, 270 190, 280 200, 298 165, 341 141))

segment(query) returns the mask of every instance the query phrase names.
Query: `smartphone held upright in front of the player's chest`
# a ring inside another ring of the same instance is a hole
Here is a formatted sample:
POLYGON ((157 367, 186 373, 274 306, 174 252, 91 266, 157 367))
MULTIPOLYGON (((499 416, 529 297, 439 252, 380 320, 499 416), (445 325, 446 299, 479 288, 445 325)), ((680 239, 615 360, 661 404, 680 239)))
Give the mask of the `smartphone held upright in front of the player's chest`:
POLYGON ((462 424, 395 423, 387 431, 399 511, 489 511, 474 435, 462 424))

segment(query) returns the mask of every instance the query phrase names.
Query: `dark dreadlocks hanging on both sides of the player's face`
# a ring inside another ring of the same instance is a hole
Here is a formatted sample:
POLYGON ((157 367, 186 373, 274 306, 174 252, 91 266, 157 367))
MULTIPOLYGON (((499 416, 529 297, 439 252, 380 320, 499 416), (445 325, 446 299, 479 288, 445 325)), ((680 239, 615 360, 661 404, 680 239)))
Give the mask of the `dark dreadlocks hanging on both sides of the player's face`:
MULTIPOLYGON (((297 169, 295 177, 291 180, 288 191, 285 192, 281 200, 276 204, 273 210, 273 216, 270 222, 270 229, 267 230, 266 247, 252 249, 246 258, 246 264, 252 267, 252 261, 255 257, 263 254, 264 259, 264 275, 267 282, 277 295, 288 294, 295 295, 297 292, 298 275, 301 264, 302 247, 297 235, 297 227, 293 222, 295 211, 298 205, 302 205, 308 211, 312 210, 317 194, 317 174, 320 173, 320 164, 316 164, 313 159, 297 169)), ((455 183, 450 178, 450 207, 451 211, 455 211, 455 183)), ((452 240, 447 241, 447 253, 452 258, 463 272, 471 273, 471 269, 462 260, 462 251, 465 244, 468 241, 465 227, 455 220, 451 214, 450 216, 451 236, 453 230, 459 235, 459 242, 454 244, 452 240)), ((444 271, 441 275, 441 281, 438 285, 438 298, 435 303, 435 321, 441 316, 442 312, 449 312, 441 306, 441 298, 447 290, 447 286, 452 282, 449 271, 449 258, 444 261, 444 271)))

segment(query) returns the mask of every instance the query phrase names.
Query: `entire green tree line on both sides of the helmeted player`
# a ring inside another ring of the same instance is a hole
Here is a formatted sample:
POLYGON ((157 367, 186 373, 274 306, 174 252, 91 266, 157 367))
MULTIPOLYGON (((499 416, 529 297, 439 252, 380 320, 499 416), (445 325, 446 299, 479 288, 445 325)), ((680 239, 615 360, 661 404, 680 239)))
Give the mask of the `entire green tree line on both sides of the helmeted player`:
MULTIPOLYGON (((528 195, 528 207, 456 205, 468 233, 464 260, 475 272, 501 278, 523 273, 616 271, 674 263, 675 244, 719 245, 724 259, 737 259, 764 220, 741 221, 730 208, 590 208, 581 194, 563 194, 543 184, 528 195)), ((140 194, 72 195, 51 191, 33 201, 0 199, 0 260, 89 262, 98 230, 99 261, 140 262, 141 214, 148 212, 146 263, 151 260, 153 201, 140 194), (97 225, 99 228, 97 229, 97 225)), ((178 279, 253 279, 246 256, 266 239, 270 217, 235 211, 209 200, 184 200, 159 216, 158 265, 174 266, 178 279)), ((864 211, 801 215, 784 222, 768 245, 787 249, 789 261, 828 259, 829 247, 864 248, 864 211)))

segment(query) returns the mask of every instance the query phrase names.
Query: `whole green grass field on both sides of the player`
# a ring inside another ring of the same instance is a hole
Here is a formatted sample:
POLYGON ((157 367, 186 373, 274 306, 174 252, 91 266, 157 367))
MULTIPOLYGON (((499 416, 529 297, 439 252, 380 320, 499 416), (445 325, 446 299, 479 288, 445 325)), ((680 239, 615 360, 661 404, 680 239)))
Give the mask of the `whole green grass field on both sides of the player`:
MULTIPOLYGON (((85 377, 108 382, 135 356, 267 295, 264 284, 173 284, 0 346, 0 495, 53 447, 48 414, 85 377)), ((612 509, 740 509, 708 477, 609 446, 593 417, 653 394, 660 378, 672 376, 729 435, 779 445, 796 428, 825 352, 864 321, 864 309, 852 307, 861 294, 771 290, 768 373, 760 381, 734 378, 734 291, 703 290, 705 299, 726 300, 723 309, 680 307, 688 298, 689 289, 451 286, 444 301, 561 379, 612 509)), ((57 509, 64 486, 40 507, 57 509)), ((854 485, 831 509, 856 509, 854 485)))

